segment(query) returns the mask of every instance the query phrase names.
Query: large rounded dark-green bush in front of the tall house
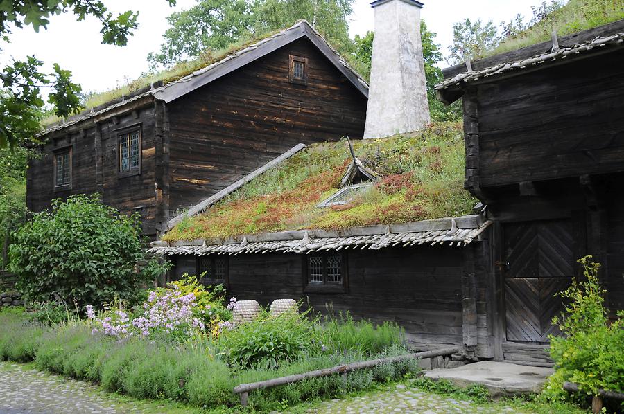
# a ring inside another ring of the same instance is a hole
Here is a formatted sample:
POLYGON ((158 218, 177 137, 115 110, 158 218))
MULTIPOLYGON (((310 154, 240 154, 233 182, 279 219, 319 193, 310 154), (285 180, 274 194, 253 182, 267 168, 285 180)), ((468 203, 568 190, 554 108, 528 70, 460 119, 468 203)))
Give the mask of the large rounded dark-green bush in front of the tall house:
POLYGON ((164 271, 146 260, 139 216, 121 215, 97 195, 56 199, 50 211, 33 215, 15 233, 10 269, 28 300, 76 300, 79 307, 132 300, 164 271))

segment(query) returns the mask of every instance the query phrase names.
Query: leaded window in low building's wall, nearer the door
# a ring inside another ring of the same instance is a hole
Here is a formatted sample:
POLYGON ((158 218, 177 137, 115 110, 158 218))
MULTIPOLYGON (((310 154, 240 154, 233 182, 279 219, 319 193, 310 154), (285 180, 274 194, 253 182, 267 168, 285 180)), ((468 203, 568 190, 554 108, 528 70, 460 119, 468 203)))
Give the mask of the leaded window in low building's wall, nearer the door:
POLYGON ((347 255, 322 252, 304 255, 306 292, 346 293, 347 255))

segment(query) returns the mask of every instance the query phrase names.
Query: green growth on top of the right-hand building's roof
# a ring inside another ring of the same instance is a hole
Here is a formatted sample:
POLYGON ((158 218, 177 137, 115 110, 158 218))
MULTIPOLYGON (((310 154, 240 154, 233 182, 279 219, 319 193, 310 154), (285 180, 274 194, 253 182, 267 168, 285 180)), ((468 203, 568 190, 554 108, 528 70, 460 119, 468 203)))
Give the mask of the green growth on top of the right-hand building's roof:
POLYGON ((562 8, 551 12, 542 21, 514 37, 503 40, 487 55, 497 55, 551 39, 624 19, 624 0, 570 0, 562 8))

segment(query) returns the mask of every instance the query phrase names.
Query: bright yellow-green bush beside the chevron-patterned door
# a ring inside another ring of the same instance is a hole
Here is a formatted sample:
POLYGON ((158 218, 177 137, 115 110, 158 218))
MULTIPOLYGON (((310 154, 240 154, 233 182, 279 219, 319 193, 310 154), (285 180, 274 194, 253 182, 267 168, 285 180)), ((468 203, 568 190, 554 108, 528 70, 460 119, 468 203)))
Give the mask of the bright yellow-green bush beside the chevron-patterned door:
POLYGON ((578 260, 585 280, 573 281, 559 294, 568 301, 562 316, 553 318, 563 332, 551 337, 551 357, 557 373, 547 384, 545 395, 556 401, 565 399, 563 381, 579 384, 582 394, 596 395, 598 389, 624 392, 624 312, 609 323, 604 306, 606 293, 598 282, 600 264, 591 256, 578 260))

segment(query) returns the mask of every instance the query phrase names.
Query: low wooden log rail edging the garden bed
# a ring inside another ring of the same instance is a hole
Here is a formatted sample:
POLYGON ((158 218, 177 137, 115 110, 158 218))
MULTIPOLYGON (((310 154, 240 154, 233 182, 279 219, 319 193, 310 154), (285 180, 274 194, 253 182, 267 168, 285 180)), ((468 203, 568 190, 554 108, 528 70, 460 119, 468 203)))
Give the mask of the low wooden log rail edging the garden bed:
POLYGON ((407 359, 443 357, 445 355, 460 352, 461 349, 461 347, 442 348, 439 350, 417 352, 415 354, 399 355, 398 357, 378 358, 371 359, 369 361, 358 361, 353 363, 347 363, 345 365, 334 366, 331 368, 322 368, 320 370, 304 372, 302 374, 287 375, 286 377, 268 379, 266 381, 252 382, 250 384, 239 384, 234 387, 234 394, 239 394, 241 396, 241 405, 246 406, 249 393, 253 390, 259 390, 260 388, 271 388, 285 384, 293 384, 294 382, 303 381, 304 379, 327 377, 328 375, 333 374, 346 375, 347 372, 362 370, 365 368, 373 368, 374 366, 378 366, 382 363, 396 363, 400 361, 405 361, 407 359))

